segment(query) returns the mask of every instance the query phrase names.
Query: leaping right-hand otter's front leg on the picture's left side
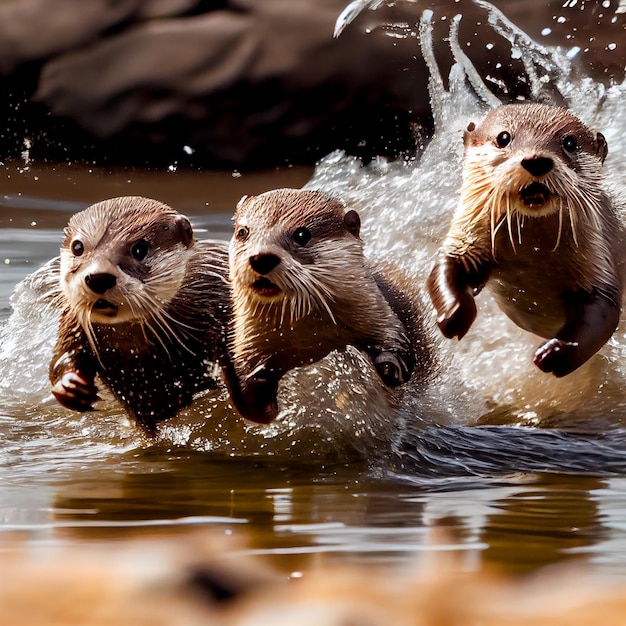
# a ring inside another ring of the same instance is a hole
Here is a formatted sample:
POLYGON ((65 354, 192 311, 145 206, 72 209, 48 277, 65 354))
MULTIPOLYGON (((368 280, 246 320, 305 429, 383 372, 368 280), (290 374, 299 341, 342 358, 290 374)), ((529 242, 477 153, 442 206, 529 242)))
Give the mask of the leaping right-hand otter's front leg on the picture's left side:
POLYGON ((462 339, 476 319, 474 295, 485 284, 489 268, 477 268, 472 274, 459 258, 440 255, 426 281, 437 312, 437 326, 449 339, 462 339))

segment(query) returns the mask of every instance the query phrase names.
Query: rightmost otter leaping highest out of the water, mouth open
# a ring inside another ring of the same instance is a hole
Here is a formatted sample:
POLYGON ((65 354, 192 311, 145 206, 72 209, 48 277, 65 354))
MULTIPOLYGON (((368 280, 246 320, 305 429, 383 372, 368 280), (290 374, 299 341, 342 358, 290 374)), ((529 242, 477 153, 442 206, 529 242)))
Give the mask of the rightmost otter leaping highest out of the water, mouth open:
POLYGON ((607 143, 566 109, 503 105, 464 133, 460 202, 427 280, 446 337, 461 339, 486 283, 503 312, 547 339, 534 354, 565 376, 613 334, 624 229, 603 186, 607 143))

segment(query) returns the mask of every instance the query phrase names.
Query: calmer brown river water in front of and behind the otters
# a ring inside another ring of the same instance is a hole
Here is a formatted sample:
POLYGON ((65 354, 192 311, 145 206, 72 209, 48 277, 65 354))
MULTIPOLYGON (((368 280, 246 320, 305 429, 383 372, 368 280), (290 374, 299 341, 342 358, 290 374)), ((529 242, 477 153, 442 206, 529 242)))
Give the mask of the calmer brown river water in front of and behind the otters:
MULTIPOLYGON (((241 195, 300 187, 311 174, 4 164, 3 328, 16 285, 57 254, 67 219, 88 204, 155 197, 189 215, 201 235, 226 239, 241 195)), ((251 553, 284 571, 306 568, 320 555, 394 566, 455 550, 468 569, 496 564, 519 572, 580 561, 626 575, 626 438, 619 428, 612 436, 462 421, 434 428, 432 412, 424 410, 403 415, 401 435, 373 429, 370 441, 354 446, 359 435, 352 427, 336 440, 327 428, 321 448, 309 444, 322 434, 301 427, 280 437, 246 433, 256 438, 246 444, 226 432, 245 427, 209 404, 192 407, 167 437, 150 441, 112 402, 80 415, 54 403, 45 358, 54 323, 37 316, 36 303, 20 306, 33 315, 32 328, 17 345, 7 347, 6 335, 0 344, 4 537, 17 533, 45 546, 200 528, 241 536, 251 553), (198 423, 216 420, 219 426, 189 436, 198 423), (444 544, 432 545, 435 527, 446 530, 444 544)), ((309 389, 300 401, 317 403, 318 396, 306 394, 318 392, 309 389)))

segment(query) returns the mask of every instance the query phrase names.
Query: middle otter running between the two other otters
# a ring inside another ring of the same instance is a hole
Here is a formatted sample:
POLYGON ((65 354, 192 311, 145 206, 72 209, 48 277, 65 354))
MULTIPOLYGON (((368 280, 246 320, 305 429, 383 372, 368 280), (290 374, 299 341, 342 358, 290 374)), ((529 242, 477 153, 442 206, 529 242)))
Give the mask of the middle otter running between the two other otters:
POLYGON ((356 211, 319 191, 276 189, 244 196, 234 219, 231 396, 241 414, 270 422, 285 373, 348 345, 389 387, 426 369, 421 310, 390 266, 365 261, 356 211))

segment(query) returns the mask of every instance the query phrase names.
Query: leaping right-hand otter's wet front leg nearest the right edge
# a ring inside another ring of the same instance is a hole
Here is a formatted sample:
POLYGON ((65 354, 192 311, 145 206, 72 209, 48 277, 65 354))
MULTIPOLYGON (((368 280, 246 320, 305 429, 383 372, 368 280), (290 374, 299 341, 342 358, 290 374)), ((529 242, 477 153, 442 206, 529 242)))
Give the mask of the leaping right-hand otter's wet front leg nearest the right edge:
POLYGON ((535 352, 534 363, 544 372, 566 376, 590 359, 615 332, 621 309, 597 290, 580 291, 565 298, 567 321, 556 337, 535 352))

